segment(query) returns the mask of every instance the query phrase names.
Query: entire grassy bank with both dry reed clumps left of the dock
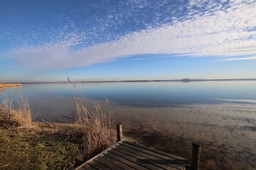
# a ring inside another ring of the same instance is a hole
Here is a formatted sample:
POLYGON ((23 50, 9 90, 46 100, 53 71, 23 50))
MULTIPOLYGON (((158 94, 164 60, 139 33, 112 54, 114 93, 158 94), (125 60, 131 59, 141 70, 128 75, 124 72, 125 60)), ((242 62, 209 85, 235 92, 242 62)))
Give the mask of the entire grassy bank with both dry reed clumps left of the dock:
POLYGON ((33 122, 27 97, 0 104, 0 169, 63 169, 81 164, 115 141, 113 114, 74 92, 72 124, 33 122))

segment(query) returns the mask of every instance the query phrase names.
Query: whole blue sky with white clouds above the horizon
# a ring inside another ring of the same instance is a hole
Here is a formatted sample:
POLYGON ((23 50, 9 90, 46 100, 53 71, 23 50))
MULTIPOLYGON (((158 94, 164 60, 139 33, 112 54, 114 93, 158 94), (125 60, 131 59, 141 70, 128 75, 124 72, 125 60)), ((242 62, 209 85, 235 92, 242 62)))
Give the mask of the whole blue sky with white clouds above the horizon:
POLYGON ((256 78, 256 1, 3 0, 0 81, 256 78))

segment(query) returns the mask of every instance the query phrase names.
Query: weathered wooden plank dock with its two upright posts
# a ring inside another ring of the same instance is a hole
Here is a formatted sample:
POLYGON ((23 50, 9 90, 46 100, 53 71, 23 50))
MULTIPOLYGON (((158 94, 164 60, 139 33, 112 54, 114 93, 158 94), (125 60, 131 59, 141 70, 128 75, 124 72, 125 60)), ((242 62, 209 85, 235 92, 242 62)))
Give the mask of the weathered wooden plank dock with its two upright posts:
POLYGON ((122 139, 122 125, 117 125, 116 130, 118 142, 115 145, 76 169, 199 169, 200 145, 196 143, 192 149, 193 165, 188 166, 188 159, 122 139))

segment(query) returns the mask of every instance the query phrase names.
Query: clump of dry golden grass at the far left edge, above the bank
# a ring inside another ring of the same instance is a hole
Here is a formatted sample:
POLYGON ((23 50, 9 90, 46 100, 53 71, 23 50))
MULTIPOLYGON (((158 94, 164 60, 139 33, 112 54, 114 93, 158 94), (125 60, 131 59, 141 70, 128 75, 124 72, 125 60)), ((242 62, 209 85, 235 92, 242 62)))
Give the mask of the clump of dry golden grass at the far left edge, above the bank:
POLYGON ((9 99, 1 95, 2 103, 0 104, 0 124, 12 126, 27 126, 32 124, 31 110, 29 108, 28 96, 15 97, 9 99), (15 103, 14 106, 13 102, 15 103))

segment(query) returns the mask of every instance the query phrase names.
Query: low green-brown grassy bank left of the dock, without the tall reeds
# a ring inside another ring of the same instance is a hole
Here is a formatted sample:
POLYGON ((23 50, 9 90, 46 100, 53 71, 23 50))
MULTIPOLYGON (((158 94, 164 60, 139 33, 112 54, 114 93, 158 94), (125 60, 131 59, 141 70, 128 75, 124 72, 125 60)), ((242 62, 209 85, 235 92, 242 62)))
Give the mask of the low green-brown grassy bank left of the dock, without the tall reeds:
POLYGON ((33 123, 0 126, 0 169, 63 169, 81 164, 83 127, 33 123))

